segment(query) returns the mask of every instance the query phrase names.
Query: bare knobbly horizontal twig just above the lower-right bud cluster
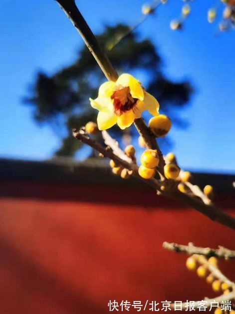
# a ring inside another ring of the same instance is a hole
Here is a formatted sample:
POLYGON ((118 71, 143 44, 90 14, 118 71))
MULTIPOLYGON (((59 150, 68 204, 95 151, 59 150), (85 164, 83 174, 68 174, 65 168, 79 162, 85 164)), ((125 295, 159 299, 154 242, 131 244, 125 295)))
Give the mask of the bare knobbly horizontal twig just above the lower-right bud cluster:
POLYGON ((206 257, 222 257, 225 259, 235 258, 235 251, 223 246, 219 246, 219 248, 215 249, 210 247, 197 247, 194 246, 192 242, 190 242, 189 245, 182 245, 165 241, 163 242, 163 247, 172 251, 187 253, 189 255, 197 254, 206 257))

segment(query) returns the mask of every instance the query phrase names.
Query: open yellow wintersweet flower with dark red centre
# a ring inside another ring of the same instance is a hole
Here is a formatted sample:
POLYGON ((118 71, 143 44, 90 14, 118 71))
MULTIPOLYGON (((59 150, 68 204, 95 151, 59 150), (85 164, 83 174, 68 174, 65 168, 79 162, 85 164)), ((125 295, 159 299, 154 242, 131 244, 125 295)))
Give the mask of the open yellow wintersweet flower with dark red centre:
POLYGON ((144 110, 158 115, 159 103, 148 93, 141 83, 130 74, 122 74, 116 82, 103 83, 96 99, 91 99, 91 106, 99 110, 97 124, 100 130, 115 123, 121 129, 130 126, 134 119, 140 118, 144 110))

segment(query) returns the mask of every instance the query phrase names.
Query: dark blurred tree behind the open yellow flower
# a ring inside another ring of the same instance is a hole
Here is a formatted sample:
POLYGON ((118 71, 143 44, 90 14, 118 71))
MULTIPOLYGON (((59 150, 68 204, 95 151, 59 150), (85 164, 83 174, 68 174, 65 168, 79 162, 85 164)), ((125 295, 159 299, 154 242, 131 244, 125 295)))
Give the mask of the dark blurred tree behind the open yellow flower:
MULTIPOLYGON (((160 102, 161 112, 168 112, 174 106, 185 105, 192 92, 188 81, 173 82, 167 79, 161 68, 161 58, 153 43, 148 40, 138 40, 137 34, 131 32, 118 45, 109 47, 129 27, 124 24, 106 26, 104 32, 98 35, 98 41, 107 48, 107 54, 114 67, 121 72, 141 71, 147 77, 146 89, 160 102)), ((46 122, 56 126, 61 134, 61 147, 56 155, 72 156, 80 148, 79 142, 71 135, 73 127, 84 125, 89 120, 96 120, 97 111, 89 104, 89 97, 97 96, 97 86, 104 81, 104 75, 95 59, 83 46, 76 61, 48 76, 39 72, 36 81, 24 102, 34 108, 34 118, 37 122, 46 122)), ((178 113, 171 110, 170 117, 181 124, 178 113)), ((119 129, 113 128, 118 136, 119 129)), ((120 134, 120 133, 119 133, 120 134)))

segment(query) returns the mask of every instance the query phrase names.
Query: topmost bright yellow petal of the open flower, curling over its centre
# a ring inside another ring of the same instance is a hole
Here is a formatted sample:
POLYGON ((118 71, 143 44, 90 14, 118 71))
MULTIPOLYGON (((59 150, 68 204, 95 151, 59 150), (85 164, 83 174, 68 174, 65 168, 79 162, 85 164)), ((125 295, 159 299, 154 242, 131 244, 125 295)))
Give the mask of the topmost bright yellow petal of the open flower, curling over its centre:
POLYGON ((116 81, 116 85, 119 84, 125 87, 129 86, 133 98, 144 99, 144 90, 141 83, 131 74, 121 74, 116 81))

